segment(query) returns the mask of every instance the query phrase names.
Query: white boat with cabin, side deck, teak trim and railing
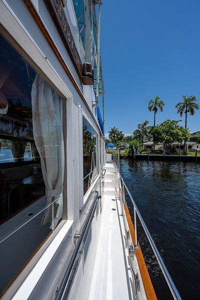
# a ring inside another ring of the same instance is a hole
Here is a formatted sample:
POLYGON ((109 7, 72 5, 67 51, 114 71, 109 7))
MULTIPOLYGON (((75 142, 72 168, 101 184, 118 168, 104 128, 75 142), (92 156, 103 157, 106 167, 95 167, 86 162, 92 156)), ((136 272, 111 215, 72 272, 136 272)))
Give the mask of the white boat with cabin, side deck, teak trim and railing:
POLYGON ((100 6, 0 0, 2 299, 156 298, 105 153, 100 6))

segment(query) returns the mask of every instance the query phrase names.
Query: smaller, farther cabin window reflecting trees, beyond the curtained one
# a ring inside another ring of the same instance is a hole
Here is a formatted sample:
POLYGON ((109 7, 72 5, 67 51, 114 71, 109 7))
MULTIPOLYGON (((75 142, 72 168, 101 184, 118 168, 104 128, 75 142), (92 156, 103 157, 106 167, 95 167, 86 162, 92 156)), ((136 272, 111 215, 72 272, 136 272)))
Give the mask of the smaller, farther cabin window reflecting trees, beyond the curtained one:
POLYGON ((83 193, 87 191, 97 175, 97 134, 83 116, 82 118, 83 137, 83 193))

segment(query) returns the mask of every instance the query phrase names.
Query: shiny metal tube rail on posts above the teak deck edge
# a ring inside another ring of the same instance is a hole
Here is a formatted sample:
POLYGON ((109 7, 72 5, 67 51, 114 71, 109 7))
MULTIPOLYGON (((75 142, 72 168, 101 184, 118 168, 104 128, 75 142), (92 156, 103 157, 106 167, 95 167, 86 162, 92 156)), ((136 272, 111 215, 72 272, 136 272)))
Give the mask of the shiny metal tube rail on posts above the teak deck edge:
MULTIPOLYGON (((115 163, 114 163, 114 164, 115 164, 115 163)), ((117 167, 116 164, 115 164, 115 166, 117 167)), ((143 227, 143 229, 144 229, 144 232, 145 232, 145 234, 146 234, 146 236, 147 236, 147 238, 148 238, 148 241, 149 241, 149 243, 150 243, 150 245, 151 245, 151 248, 152 248, 152 250, 153 250, 153 252, 154 252, 154 254, 155 254, 155 257, 156 257, 156 259, 157 259, 157 262, 158 262, 158 264, 159 264, 159 266, 160 266, 160 268, 161 268, 161 271, 162 271, 162 273, 163 273, 163 275, 164 275, 164 277, 165 277, 165 280, 166 280, 166 282, 167 282, 167 284, 168 284, 168 287, 169 287, 169 289, 170 289, 170 291, 171 291, 171 294, 172 294, 173 298, 174 298, 174 299, 177 299, 177 300, 181 300, 181 297, 180 297, 180 295, 179 295, 179 292, 177 291, 177 289, 176 289, 176 287, 175 287, 175 284, 174 284, 174 282, 173 282, 173 280, 172 280, 172 278, 171 278, 171 276, 170 276, 170 274, 169 274, 169 272, 168 272, 168 270, 167 270, 167 268, 166 268, 166 266, 165 266, 165 264, 164 264, 164 262, 163 262, 163 260, 162 260, 162 258, 161 258, 161 256, 160 256, 160 254, 159 254, 159 252, 158 252, 158 250, 157 250, 157 247, 156 247, 156 245, 155 245, 155 243, 154 243, 154 241, 153 241, 153 239, 152 239, 152 237, 151 237, 151 235, 150 235, 150 233, 149 233, 149 231, 148 231, 148 229, 147 229, 147 227, 146 227, 146 225, 145 225, 145 223, 144 223, 144 220, 143 220, 143 218, 142 218, 142 216, 141 216, 141 214, 140 214, 140 212, 139 212, 139 210, 138 210, 138 208, 137 208, 137 206, 136 206, 136 204, 135 204, 135 202, 134 202, 134 200, 133 200, 133 198, 132 198, 132 196, 131 196, 131 194, 130 194, 130 191, 129 191, 129 189, 127 188, 125 182, 123 181, 123 178, 121 177, 121 174, 119 173, 119 171, 118 171, 118 174, 119 174, 119 177, 120 177, 120 179, 121 179, 121 181, 122 181, 122 187, 123 187, 123 190, 124 190, 124 187, 125 187, 125 189, 126 189, 128 195, 129 195, 129 197, 130 197, 130 199, 131 199, 131 202, 132 202, 132 204, 133 204, 133 208, 134 208, 134 229, 135 229, 135 230, 134 230, 134 231, 135 231, 135 245, 134 245, 134 247, 135 247, 135 249, 138 248, 138 240, 137 240, 137 224, 136 224, 136 214, 137 214, 137 216, 138 216, 138 218, 139 218, 139 220, 140 220, 140 222, 141 222, 141 225, 142 225, 142 227, 143 227)), ((121 203, 122 203, 122 199, 121 199, 121 203)), ((121 204, 121 205, 122 205, 122 204, 121 204)), ((121 213, 122 213, 122 212, 121 212, 121 213)))

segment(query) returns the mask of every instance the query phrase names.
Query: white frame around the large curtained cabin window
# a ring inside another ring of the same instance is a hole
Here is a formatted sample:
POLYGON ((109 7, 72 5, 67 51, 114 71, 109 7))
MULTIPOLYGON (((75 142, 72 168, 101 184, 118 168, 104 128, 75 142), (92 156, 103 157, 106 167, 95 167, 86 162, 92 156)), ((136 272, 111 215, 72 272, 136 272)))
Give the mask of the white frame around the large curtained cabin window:
MULTIPOLYGON (((7 11, 5 16, 7 15, 7 11)), ((11 14, 12 15, 12 14, 11 14)), ((51 244, 55 236, 61 230, 61 228, 66 224, 68 226, 72 225, 72 221, 67 219, 67 176, 66 176, 66 164, 67 164, 67 127, 66 127, 66 103, 69 98, 72 98, 72 94, 69 92, 69 89, 64 84, 62 79, 55 72, 53 66, 46 60, 43 59, 43 54, 36 42, 31 38, 28 34, 27 30, 22 27, 18 20, 13 18, 12 20, 16 27, 12 26, 12 22, 8 26, 7 30, 0 24, 0 33, 5 38, 5 40, 13 47, 13 49, 18 52, 23 59, 37 72, 40 76, 44 78, 44 80, 53 88, 57 94, 62 98, 62 130, 63 130, 63 139, 64 139, 64 181, 63 181, 63 211, 62 218, 56 225, 55 229, 48 234, 39 247, 32 253, 32 255, 28 258, 28 260, 23 264, 22 268, 17 272, 16 275, 11 279, 10 282, 5 286, 3 290, 2 296, 4 297, 7 292, 9 295, 13 295, 21 285, 21 281, 23 281, 27 275, 30 273, 30 270, 36 265, 38 260, 44 254, 47 247, 51 244), (18 39, 20 39, 21 43, 17 42, 15 38, 15 30, 19 29, 18 39), (13 29, 15 28, 15 29, 13 29), (27 38, 24 38, 26 35, 27 38), (31 45, 31 46, 30 46, 31 45), (39 63, 40 61, 40 63, 39 63), (63 105, 65 108, 63 109, 63 105), (65 113, 65 114, 64 114, 65 113), (65 205, 64 205, 65 202, 65 205), (13 282, 14 281, 14 282, 13 282)), ((30 160, 31 161, 31 160, 30 160)), ((14 162, 9 162, 9 164, 14 164, 14 162)), ((69 227, 69 228, 70 228, 69 227)), ((65 233, 66 234, 66 233, 65 233)))

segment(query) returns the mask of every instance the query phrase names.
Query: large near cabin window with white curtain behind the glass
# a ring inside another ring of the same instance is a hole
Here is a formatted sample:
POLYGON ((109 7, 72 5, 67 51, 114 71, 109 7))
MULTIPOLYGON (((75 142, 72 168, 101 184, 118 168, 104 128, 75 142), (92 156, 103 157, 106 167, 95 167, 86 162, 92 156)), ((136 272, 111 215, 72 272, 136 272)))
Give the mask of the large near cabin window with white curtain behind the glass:
POLYGON ((62 218, 62 98, 0 35, 0 294, 62 218))

